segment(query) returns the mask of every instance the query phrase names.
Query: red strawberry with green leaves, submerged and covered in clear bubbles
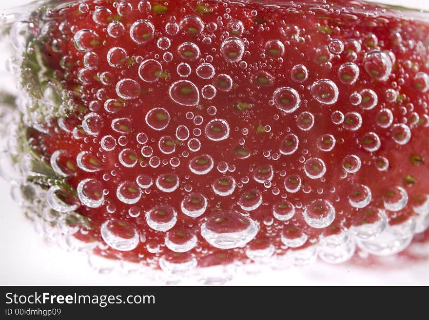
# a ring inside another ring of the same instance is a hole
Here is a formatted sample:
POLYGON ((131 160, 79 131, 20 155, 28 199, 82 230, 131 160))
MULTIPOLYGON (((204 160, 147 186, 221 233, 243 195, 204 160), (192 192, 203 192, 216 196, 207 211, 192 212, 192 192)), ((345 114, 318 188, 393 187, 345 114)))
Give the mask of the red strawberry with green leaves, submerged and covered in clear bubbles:
POLYGON ((340 263, 356 248, 397 253, 427 228, 417 13, 89 0, 29 21, 15 159, 45 190, 43 217, 96 254, 171 272, 340 263))

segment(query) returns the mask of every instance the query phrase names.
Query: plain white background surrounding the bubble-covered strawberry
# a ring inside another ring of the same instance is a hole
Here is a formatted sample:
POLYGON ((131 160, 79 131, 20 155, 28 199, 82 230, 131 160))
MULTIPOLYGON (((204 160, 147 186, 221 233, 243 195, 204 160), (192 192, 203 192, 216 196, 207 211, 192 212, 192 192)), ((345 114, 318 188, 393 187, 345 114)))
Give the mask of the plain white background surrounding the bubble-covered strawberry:
MULTIPOLYGON (((25 0, 0 0, 0 14, 25 0)), ((388 0, 390 4, 429 10, 427 0, 388 0)), ((4 72, 4 54, 0 55, 0 76, 4 72)), ((0 81, 1 82, 1 81, 0 81)), ((3 83, 4 85, 4 83, 3 83)), ((9 84, 11 85, 11 84, 9 84)), ((119 272, 99 274, 78 252, 67 252, 46 242, 27 221, 9 195, 8 182, 0 178, 0 284, 69 284, 69 285, 146 285, 142 274, 119 272)), ((318 285, 318 284, 425 284, 429 285, 429 264, 417 264, 397 270, 364 269, 349 265, 316 263, 305 268, 283 271, 263 270, 255 275, 237 275, 229 284, 237 285, 318 285)), ((184 281, 184 284, 194 283, 184 281)))

